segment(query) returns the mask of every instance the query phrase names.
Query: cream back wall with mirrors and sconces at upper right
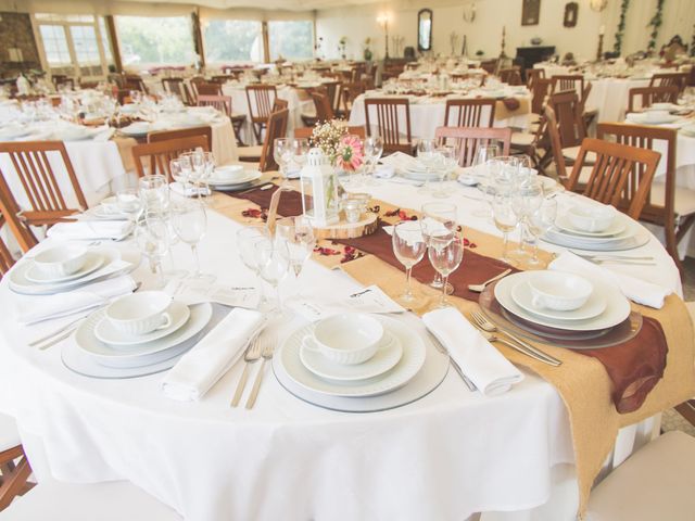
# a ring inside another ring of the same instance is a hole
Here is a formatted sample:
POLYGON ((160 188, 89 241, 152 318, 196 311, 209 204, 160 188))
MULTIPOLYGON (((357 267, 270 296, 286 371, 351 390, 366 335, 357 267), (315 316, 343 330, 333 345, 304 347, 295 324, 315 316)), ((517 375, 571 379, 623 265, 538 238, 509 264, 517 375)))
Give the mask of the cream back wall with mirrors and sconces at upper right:
MULTIPOLYGON (((609 0, 608 7, 601 13, 589 8, 589 0, 577 0, 579 16, 577 26, 563 26, 565 0, 542 0, 540 23, 535 26, 521 26, 522 0, 478 0, 468 1, 476 4, 476 20, 467 23, 463 18, 462 3, 447 2, 397 2, 384 5, 363 5, 343 9, 319 10, 316 14, 316 35, 324 38, 326 58, 339 58, 338 40, 348 37, 348 58, 362 56, 364 40, 370 37, 375 43, 371 49, 376 58, 383 58, 383 29, 377 24, 377 15, 389 11, 392 22, 390 35, 405 38, 404 46, 416 47, 417 12, 422 8, 433 11, 433 52, 451 54, 450 35, 458 36, 457 52, 460 52, 463 35, 467 36, 468 55, 482 50, 486 56, 500 54, 502 27, 506 27, 506 52, 514 56, 517 47, 530 45, 531 38, 540 37, 543 45, 555 46, 560 54, 573 52, 580 59, 593 60, 596 55, 598 28, 606 26, 604 50, 611 50, 614 35, 618 25, 620 1, 609 0)), ((627 31, 623 37, 623 54, 645 49, 648 42, 646 24, 654 15, 656 0, 632 0, 627 16, 627 31)), ((695 23, 695 0, 666 0, 664 25, 659 30, 657 45, 660 47, 674 34, 680 34, 690 43, 695 23)), ((393 55, 391 41, 390 54, 393 55)))

